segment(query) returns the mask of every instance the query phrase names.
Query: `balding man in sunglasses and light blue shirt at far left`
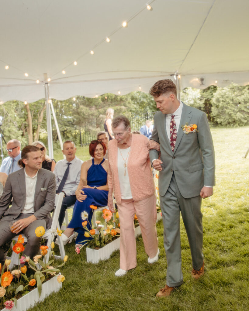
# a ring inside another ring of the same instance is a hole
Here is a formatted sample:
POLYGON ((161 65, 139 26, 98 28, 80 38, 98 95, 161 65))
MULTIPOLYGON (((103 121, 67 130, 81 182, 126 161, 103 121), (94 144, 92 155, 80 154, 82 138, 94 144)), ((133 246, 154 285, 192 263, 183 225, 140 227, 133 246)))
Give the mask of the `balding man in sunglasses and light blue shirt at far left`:
POLYGON ((9 156, 2 160, 0 172, 9 175, 21 169, 18 165, 18 161, 21 159, 21 142, 17 139, 10 140, 7 142, 6 151, 9 156))

